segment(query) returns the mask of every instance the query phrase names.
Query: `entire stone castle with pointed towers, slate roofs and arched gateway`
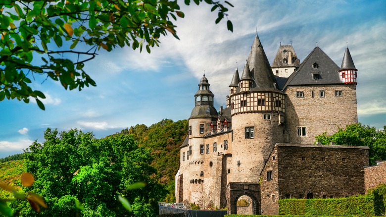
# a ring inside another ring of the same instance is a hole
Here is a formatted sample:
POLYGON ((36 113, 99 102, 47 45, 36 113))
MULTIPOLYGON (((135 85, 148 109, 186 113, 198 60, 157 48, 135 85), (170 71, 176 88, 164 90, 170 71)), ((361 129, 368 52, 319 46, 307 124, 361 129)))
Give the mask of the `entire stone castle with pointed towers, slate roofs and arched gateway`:
POLYGON ((236 214, 247 196, 250 214, 277 215, 282 198, 364 194, 368 147, 314 144, 316 135, 357 123, 356 84, 348 48, 339 68, 319 47, 300 64, 292 45, 280 45, 271 66, 256 34, 225 109, 213 107, 205 75, 198 84, 176 202, 236 214))

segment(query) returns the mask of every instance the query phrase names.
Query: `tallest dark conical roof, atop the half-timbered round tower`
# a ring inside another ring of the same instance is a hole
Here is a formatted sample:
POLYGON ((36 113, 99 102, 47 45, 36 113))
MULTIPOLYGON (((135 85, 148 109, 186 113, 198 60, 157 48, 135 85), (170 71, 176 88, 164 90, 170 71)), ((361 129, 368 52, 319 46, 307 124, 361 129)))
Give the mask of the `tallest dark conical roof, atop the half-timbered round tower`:
POLYGON ((264 52, 263 46, 261 45, 257 34, 255 40, 253 41, 247 62, 249 64, 253 80, 255 81, 252 91, 273 91, 282 93, 275 87, 275 76, 272 73, 267 55, 264 52))

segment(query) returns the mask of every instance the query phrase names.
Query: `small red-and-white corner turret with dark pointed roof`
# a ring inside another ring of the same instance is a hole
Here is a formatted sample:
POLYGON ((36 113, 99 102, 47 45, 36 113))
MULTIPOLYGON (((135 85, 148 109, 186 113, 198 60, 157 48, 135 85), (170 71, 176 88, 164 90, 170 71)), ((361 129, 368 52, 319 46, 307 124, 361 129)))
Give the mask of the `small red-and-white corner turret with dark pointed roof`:
POLYGON ((342 60, 342 65, 340 66, 340 69, 339 69, 340 79, 345 84, 356 84, 357 71, 358 69, 355 68, 354 61, 352 61, 350 51, 348 50, 348 48, 346 48, 346 51, 344 52, 344 56, 342 60))

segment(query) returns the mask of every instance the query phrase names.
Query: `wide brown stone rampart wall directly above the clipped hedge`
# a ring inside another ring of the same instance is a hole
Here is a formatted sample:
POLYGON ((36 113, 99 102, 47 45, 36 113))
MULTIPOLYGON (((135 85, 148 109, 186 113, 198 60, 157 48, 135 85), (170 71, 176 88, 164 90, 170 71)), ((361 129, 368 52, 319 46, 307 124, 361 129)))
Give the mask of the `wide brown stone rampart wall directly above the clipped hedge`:
MULTIPOLYGON (((368 147, 278 144, 279 198, 364 194, 368 147)), ((269 161, 272 161, 270 159, 269 161)))

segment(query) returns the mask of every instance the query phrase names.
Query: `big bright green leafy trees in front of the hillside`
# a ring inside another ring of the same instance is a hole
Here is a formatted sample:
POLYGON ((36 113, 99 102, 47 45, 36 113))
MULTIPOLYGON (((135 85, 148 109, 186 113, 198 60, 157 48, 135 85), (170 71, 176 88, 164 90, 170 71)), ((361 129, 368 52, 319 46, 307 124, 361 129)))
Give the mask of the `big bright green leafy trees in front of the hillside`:
POLYGON ((132 135, 95 139, 92 133, 47 129, 45 142, 34 142, 25 152, 27 171, 35 175, 25 189, 45 198, 48 209, 35 213, 26 203, 11 207, 22 216, 156 216, 166 191, 153 179, 150 151, 138 147, 132 135), (142 189, 128 189, 133 183, 142 189), (126 198, 130 213, 118 201, 126 198), (79 201, 83 211, 76 209, 79 201), (142 213, 143 211, 146 213, 142 213))

